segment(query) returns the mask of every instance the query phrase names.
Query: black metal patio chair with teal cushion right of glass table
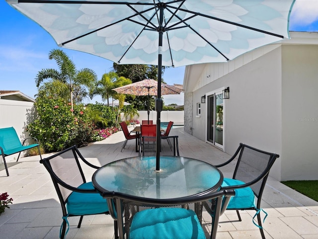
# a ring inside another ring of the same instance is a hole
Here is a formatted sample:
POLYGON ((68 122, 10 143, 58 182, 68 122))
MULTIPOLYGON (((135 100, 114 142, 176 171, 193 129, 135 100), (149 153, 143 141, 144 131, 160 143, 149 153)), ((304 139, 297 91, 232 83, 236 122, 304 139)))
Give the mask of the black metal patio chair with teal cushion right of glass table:
POLYGON ((222 167, 234 163, 237 156, 233 178, 224 178, 221 188, 235 189, 236 192, 235 197, 231 198, 227 210, 236 210, 239 221, 241 221, 239 210, 255 210, 253 223, 259 228, 262 239, 265 239, 260 212, 265 213, 265 218, 267 213, 261 209, 260 203, 269 171, 279 155, 240 143, 239 148, 228 161, 215 166, 222 167), (254 222, 255 217, 257 217, 258 224, 254 222))

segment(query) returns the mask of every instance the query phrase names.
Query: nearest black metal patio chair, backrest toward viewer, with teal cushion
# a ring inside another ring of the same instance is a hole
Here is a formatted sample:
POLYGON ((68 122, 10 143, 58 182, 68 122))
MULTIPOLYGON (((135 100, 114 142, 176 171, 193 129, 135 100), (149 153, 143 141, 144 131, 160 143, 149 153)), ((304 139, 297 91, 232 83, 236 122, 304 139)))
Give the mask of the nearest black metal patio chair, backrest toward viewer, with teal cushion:
POLYGON ((117 221, 119 239, 215 239, 219 217, 233 195, 234 190, 221 190, 169 200, 103 192, 117 221), (213 202, 211 233, 203 230, 197 216, 202 201, 213 202))

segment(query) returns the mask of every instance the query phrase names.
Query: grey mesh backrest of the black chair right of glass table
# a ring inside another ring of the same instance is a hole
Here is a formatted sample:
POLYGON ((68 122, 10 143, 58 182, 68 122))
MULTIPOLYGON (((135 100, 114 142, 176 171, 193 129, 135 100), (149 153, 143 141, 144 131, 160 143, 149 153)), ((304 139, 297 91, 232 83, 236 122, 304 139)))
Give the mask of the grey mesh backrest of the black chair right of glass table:
POLYGON ((279 155, 265 152, 243 143, 240 143, 235 155, 238 153, 239 158, 233 178, 250 184, 248 186, 253 190, 255 196, 260 198, 262 196, 269 171, 279 155))

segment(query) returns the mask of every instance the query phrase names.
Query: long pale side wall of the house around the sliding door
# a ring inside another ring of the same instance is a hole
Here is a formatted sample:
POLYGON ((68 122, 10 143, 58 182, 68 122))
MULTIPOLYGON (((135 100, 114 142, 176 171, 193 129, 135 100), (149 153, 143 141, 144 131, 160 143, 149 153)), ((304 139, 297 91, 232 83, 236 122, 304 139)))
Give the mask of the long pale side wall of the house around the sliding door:
MULTIPOLYGON (((232 63, 207 64, 204 68, 201 79, 215 74, 220 77, 193 92, 193 135, 206 138, 206 104, 201 106, 201 116, 195 117, 201 96, 230 87, 230 99, 224 100, 224 151, 233 155, 242 142, 281 154, 281 48, 274 47, 255 59, 246 57, 232 63)), ((277 159, 270 173, 278 180, 281 160, 282 157, 277 159)))

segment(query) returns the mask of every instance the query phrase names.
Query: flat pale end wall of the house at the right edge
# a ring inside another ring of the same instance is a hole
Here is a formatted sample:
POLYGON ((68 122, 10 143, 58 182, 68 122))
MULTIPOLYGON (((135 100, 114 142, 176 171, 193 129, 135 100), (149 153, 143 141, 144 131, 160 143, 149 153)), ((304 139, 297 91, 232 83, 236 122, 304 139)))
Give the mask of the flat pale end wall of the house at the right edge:
POLYGON ((318 180, 318 46, 282 52, 282 181, 318 180))

